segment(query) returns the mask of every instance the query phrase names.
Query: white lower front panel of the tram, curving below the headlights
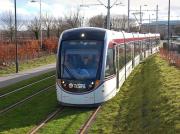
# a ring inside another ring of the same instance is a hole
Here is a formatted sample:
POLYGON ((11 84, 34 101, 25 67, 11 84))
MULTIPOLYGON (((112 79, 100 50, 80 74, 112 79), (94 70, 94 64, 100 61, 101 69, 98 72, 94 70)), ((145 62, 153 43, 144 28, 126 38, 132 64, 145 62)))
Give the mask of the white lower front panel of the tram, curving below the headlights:
POLYGON ((58 101, 62 102, 62 104, 69 105, 91 105, 103 103, 114 97, 117 92, 115 77, 113 79, 107 80, 90 93, 70 94, 63 91, 62 87, 60 87, 58 84, 56 85, 56 89, 58 101))

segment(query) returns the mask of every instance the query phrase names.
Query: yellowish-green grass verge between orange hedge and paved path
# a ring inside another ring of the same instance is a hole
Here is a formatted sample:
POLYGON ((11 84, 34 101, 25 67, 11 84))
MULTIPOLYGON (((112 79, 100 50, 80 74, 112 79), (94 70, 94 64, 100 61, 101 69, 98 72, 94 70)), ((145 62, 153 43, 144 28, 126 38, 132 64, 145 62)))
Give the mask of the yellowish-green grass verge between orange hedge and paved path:
MULTIPOLYGON (((44 56, 44 57, 40 57, 34 60, 29 60, 28 62, 20 63, 19 71, 28 70, 28 69, 36 68, 39 66, 43 66, 43 65, 51 64, 55 62, 56 62, 55 55, 44 56)), ((15 65, 0 69, 0 76, 6 76, 11 73, 15 73, 15 65)))

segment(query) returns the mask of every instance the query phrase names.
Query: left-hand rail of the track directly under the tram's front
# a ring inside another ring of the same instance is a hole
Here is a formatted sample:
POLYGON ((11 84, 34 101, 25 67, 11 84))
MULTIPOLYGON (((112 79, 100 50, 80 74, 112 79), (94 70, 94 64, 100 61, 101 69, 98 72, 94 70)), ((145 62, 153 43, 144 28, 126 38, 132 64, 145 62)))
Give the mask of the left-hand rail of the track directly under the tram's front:
POLYGON ((40 128, 42 128, 47 122, 53 119, 56 115, 64 110, 64 107, 58 108, 56 111, 52 112, 47 116, 45 120, 43 120, 38 126, 34 127, 28 134, 35 134, 40 128))

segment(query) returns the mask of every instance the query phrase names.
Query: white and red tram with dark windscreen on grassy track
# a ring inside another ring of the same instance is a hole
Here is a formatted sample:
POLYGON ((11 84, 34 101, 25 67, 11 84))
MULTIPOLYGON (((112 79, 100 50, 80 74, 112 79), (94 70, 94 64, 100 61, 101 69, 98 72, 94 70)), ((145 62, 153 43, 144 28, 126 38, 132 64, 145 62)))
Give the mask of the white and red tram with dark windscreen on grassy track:
POLYGON ((160 34, 75 28, 61 34, 57 52, 57 100, 97 106, 113 98, 132 70, 158 52, 160 34))

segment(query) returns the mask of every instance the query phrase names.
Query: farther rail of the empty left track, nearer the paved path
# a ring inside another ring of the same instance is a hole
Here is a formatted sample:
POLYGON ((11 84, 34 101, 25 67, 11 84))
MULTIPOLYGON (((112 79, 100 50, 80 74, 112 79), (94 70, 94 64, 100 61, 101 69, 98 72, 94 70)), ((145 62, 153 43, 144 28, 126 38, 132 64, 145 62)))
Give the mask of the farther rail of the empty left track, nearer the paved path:
POLYGON ((11 91, 11 92, 2 94, 2 95, 0 95, 0 99, 1 99, 1 98, 4 98, 4 97, 6 97, 6 96, 8 96, 8 95, 10 95, 10 94, 12 94, 12 93, 18 92, 18 91, 20 91, 20 90, 22 90, 22 89, 24 89, 24 88, 30 87, 30 86, 32 86, 32 85, 34 85, 34 84, 37 84, 37 83, 39 83, 39 82, 42 82, 42 81, 47 80, 47 79, 49 79, 49 78, 52 78, 52 77, 54 77, 54 76, 55 76, 55 75, 51 75, 51 76, 46 77, 46 78, 44 78, 44 79, 41 79, 41 80, 39 80, 39 81, 36 81, 36 82, 33 82, 33 83, 28 84, 28 85, 26 85, 26 86, 23 86, 23 87, 21 87, 21 88, 15 89, 15 90, 13 90, 13 91, 11 91))

